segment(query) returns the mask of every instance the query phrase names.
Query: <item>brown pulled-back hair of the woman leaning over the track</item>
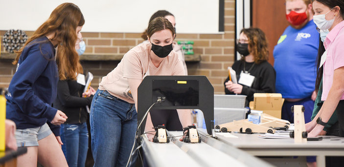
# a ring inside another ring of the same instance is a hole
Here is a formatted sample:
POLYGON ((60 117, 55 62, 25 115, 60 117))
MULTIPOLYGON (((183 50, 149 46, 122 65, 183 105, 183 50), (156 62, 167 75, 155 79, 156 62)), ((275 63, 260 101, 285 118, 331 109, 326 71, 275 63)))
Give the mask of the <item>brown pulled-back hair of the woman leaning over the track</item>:
POLYGON ((172 37, 174 37, 174 28, 172 23, 163 17, 157 17, 149 22, 147 28, 147 36, 151 38, 155 32, 164 29, 169 29, 172 32, 172 37))

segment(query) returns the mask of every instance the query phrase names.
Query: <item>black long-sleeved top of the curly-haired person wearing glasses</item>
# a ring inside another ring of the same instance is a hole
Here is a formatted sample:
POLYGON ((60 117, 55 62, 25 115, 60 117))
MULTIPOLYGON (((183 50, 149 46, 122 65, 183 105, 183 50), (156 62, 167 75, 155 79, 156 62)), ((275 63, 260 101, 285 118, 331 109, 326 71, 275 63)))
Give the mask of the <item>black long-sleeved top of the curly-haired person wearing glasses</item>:
MULTIPOLYGON (((252 86, 243 85, 243 89, 241 91, 241 95, 246 95, 246 103, 245 106, 249 106, 249 102, 253 101, 253 94, 254 93, 274 93, 275 92, 275 81, 276 81, 276 72, 274 67, 264 61, 262 63, 247 63, 242 60, 234 62, 232 65, 233 70, 236 72, 237 81, 240 79, 240 72, 244 71, 244 64, 245 70, 249 71, 250 75, 254 76, 254 81, 252 86), (254 65, 253 65, 254 64, 254 65), (253 66, 252 66, 253 65, 253 66), (252 67, 252 68, 251 68, 252 67)), ((229 77, 227 77, 225 83, 229 81, 229 77)), ((227 95, 233 95, 233 92, 230 92, 225 85, 225 93, 227 95)))

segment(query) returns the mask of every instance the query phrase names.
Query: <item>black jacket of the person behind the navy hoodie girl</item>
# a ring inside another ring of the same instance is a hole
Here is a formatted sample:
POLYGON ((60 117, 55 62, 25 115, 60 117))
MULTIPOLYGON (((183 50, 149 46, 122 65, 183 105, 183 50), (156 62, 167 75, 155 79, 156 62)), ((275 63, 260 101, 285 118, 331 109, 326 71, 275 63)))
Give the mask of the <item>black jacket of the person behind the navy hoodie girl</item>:
POLYGON ((82 97, 84 87, 75 80, 59 80, 57 83, 57 98, 53 106, 67 115, 65 124, 86 122, 88 116, 86 105, 91 104, 93 96, 82 97))

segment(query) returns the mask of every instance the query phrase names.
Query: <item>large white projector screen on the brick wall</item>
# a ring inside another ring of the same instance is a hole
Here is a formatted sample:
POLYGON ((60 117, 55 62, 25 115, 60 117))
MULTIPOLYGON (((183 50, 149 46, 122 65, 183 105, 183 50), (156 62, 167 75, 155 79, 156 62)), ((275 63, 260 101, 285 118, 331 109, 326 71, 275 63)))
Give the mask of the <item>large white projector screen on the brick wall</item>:
POLYGON ((59 4, 72 2, 85 17, 82 32, 141 33, 153 13, 167 10, 177 33, 219 33, 219 0, 5 0, 0 30, 36 30, 59 4))

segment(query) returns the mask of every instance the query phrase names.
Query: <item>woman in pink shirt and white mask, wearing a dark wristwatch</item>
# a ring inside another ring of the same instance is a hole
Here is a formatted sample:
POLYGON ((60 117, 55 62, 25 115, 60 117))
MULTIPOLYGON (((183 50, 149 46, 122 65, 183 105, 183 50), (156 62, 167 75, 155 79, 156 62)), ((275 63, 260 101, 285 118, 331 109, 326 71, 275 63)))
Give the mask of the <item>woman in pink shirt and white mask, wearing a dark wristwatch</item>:
POLYGON ((344 1, 313 0, 314 22, 329 31, 324 40, 327 51, 323 63, 321 101, 324 101, 313 121, 306 124, 309 137, 318 136, 336 110, 339 135, 344 137, 344 1))

